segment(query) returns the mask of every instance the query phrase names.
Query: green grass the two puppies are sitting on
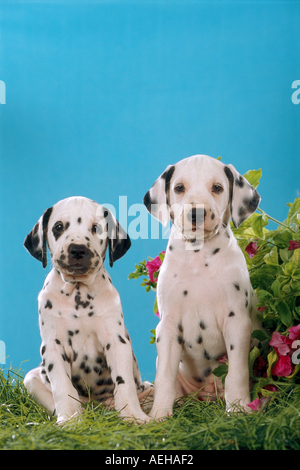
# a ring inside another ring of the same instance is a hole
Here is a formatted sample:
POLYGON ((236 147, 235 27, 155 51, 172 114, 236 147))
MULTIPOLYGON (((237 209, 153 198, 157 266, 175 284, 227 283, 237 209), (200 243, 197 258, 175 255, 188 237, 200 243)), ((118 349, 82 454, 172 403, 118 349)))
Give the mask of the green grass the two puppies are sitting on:
POLYGON ((103 405, 57 426, 27 394, 17 371, 0 369, 0 449, 300 449, 300 387, 264 411, 226 415, 224 403, 188 398, 164 422, 134 425, 103 405))

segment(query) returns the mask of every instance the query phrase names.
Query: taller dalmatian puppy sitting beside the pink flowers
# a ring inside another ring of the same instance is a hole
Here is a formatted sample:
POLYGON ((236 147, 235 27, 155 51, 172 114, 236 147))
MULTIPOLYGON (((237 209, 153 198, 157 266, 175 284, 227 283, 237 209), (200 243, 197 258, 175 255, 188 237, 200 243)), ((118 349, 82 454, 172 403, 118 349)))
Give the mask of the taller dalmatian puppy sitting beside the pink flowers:
POLYGON ((144 197, 164 226, 172 222, 157 285, 157 373, 150 416, 171 416, 176 398, 212 384, 224 353, 227 410, 250 411, 248 354, 261 329, 258 299, 230 218, 238 227, 260 196, 232 165, 195 155, 170 165, 144 197), (237 406, 238 405, 238 406, 237 406))

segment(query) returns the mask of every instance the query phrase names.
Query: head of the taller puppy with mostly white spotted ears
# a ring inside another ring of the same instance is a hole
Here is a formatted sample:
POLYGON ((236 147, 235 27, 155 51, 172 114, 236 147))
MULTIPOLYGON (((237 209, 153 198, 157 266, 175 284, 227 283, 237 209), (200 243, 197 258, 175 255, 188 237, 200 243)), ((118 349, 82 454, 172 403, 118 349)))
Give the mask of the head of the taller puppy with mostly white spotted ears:
POLYGON ((230 217, 238 227, 257 208, 260 196, 232 165, 194 155, 170 165, 144 197, 148 211, 166 226, 169 219, 187 239, 209 240, 230 217))

